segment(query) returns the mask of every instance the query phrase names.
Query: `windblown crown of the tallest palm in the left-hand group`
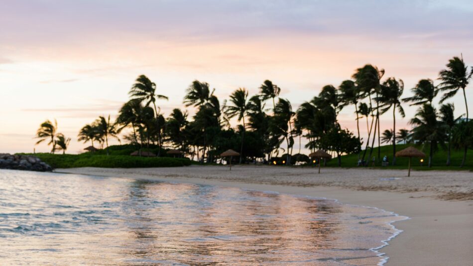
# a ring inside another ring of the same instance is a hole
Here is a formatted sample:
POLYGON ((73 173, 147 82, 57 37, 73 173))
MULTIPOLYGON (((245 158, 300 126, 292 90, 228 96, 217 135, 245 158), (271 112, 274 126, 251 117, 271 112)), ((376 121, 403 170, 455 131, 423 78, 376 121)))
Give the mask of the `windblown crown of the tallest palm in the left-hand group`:
POLYGON ((133 84, 128 94, 132 99, 136 99, 140 103, 145 102, 145 106, 153 104, 156 116, 158 115, 158 110, 156 109, 156 99, 168 100, 166 96, 156 94, 156 84, 151 82, 151 80, 149 80, 149 78, 145 75, 140 75, 136 79, 136 83, 133 84))

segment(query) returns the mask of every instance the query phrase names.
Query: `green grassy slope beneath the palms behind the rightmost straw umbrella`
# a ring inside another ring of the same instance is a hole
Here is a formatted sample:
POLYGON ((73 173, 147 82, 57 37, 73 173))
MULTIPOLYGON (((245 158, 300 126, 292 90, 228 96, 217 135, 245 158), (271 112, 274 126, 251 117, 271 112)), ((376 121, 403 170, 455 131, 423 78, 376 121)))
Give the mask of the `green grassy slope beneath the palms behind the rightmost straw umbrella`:
MULTIPOLYGON (((410 145, 413 144, 396 144, 396 151, 399 151, 403 148, 406 148, 410 145)), ((439 150, 434 152, 433 156, 433 163, 432 163, 432 168, 427 167, 428 165, 428 154, 429 154, 429 147, 423 147, 422 145, 416 145, 416 148, 422 150, 427 156, 424 158, 424 164, 423 166, 420 165, 420 158, 412 158, 412 167, 413 169, 418 169, 418 170, 429 170, 429 169, 435 169, 435 170, 459 170, 459 169, 470 169, 473 170, 473 150, 468 150, 467 153, 467 161, 465 164, 465 167, 460 168, 458 167, 460 163, 462 162, 463 158, 463 151, 462 150, 455 150, 452 149, 452 155, 451 155, 451 165, 446 166, 447 162, 447 150, 442 149, 442 147, 439 147, 439 150)), ((373 150, 372 156, 377 156, 378 148, 375 147, 373 150)), ((363 153, 361 153, 360 156, 362 156, 363 153)), ((385 145, 381 146, 381 159, 384 155, 387 155, 389 158, 390 163, 392 162, 392 145, 385 145)), ((369 161, 369 165, 371 165, 371 159, 368 158, 369 156, 369 149, 366 152, 366 157, 365 160, 369 161)), ((371 157, 372 157, 371 156, 371 157)), ((342 166, 343 167, 355 167, 356 163, 358 161, 358 154, 348 154, 342 156, 342 166)), ((398 169, 405 169, 407 168, 408 165, 408 158, 404 157, 397 157, 396 158, 396 166, 389 166, 389 167, 382 167, 382 168, 398 168, 398 169)), ((329 162, 327 162, 327 166, 338 166, 338 161, 337 158, 333 158, 329 162)), ((376 167, 381 167, 381 162, 376 163, 376 167)))

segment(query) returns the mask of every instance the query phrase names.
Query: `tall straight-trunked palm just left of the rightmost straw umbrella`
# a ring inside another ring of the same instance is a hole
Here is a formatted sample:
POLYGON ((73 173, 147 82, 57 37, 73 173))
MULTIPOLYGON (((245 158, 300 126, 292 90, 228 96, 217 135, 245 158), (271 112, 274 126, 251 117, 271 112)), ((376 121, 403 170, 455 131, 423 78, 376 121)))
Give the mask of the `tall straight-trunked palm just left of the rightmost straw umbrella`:
POLYGON ((401 95, 404 91, 404 82, 400 79, 388 78, 381 86, 381 92, 378 101, 382 103, 381 113, 386 112, 392 107, 393 134, 392 134, 392 165, 396 165, 396 108, 402 117, 405 117, 404 109, 401 106, 401 95))

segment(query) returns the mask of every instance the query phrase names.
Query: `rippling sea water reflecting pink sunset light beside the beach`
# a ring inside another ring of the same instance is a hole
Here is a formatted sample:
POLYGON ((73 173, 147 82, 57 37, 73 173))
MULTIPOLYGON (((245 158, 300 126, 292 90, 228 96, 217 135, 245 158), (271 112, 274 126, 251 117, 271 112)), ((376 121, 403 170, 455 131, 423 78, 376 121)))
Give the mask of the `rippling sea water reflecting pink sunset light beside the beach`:
POLYGON ((1 265, 377 265, 402 217, 331 200, 0 170, 1 265))

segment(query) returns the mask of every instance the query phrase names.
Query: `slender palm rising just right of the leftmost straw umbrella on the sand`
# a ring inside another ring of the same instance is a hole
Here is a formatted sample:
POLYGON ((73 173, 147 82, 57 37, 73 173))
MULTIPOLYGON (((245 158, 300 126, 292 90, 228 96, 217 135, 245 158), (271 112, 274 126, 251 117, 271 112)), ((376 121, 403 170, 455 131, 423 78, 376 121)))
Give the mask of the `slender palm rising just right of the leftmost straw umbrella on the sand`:
POLYGON ((241 133, 241 145, 240 145, 240 163, 243 157, 243 143, 244 143, 244 133, 246 130, 246 125, 244 118, 248 111, 248 91, 245 88, 239 88, 230 95, 230 103, 232 105, 225 106, 225 114, 230 119, 237 117, 238 122, 243 121, 243 130, 241 133))

